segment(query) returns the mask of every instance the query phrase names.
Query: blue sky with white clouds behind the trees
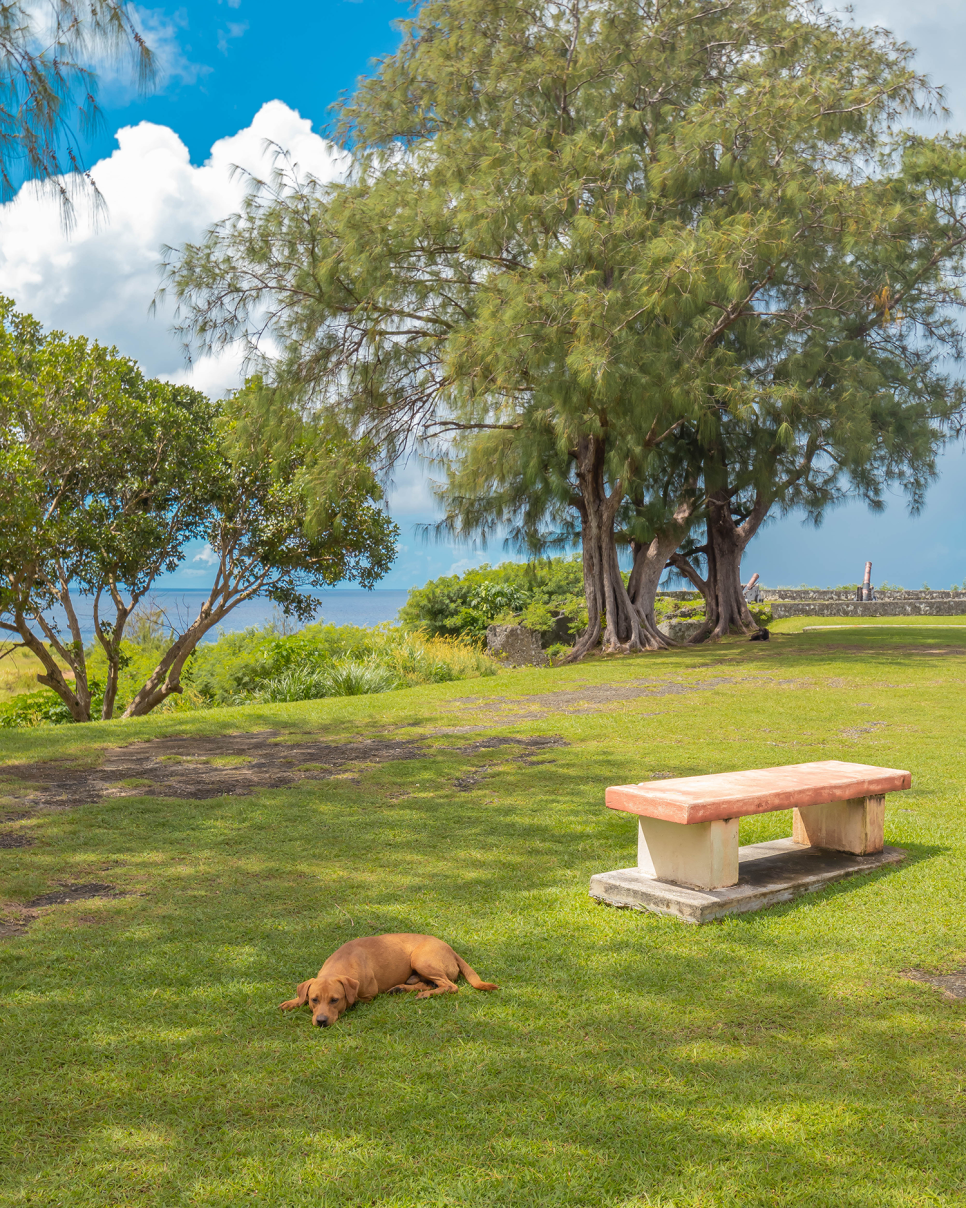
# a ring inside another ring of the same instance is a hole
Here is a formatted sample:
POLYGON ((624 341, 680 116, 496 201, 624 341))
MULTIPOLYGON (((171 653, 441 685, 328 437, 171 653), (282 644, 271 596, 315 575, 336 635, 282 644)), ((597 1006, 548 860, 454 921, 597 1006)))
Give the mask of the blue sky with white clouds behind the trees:
MULTIPOLYGON (((859 0, 856 18, 896 30, 918 48, 918 62, 945 86, 949 124, 966 127, 966 2, 859 0)), ((264 165, 266 138, 292 149, 316 174, 331 172, 321 135, 330 106, 353 88, 373 58, 398 35, 395 0, 191 0, 139 10, 157 51, 158 87, 138 97, 128 72, 101 70, 103 128, 85 158, 109 203, 106 222, 82 219, 66 239, 56 204, 31 186, 0 207, 0 291, 50 325, 83 332, 136 356, 151 373, 191 381, 213 394, 238 379, 232 358, 186 366, 169 332, 171 315, 149 313, 163 243, 198 238, 231 213, 240 185, 231 165, 264 165)), ((918 587, 966 580, 966 461, 961 447, 942 460, 925 511, 912 518, 901 499, 873 516, 859 504, 838 509, 820 530, 801 517, 769 523, 749 548, 744 569, 766 583, 855 581, 867 558, 873 579, 918 587)), ((390 492, 402 546, 385 587, 411 587, 507 554, 417 533, 435 511, 420 466, 400 469, 390 492)), ((192 550, 170 581, 203 586, 203 551, 192 550)))

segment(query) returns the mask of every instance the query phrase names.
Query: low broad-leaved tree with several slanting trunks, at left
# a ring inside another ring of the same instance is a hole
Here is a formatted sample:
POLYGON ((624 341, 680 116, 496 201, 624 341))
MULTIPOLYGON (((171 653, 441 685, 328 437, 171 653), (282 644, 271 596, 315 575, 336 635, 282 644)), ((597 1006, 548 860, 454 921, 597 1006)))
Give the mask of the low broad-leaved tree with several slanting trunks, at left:
POLYGON ((197 617, 173 626, 124 716, 180 692, 198 641, 243 600, 267 596, 304 620, 318 606, 313 588, 343 579, 372 586, 389 569, 396 529, 365 459, 336 432, 290 431, 279 455, 246 447, 258 389, 213 403, 145 378, 115 349, 45 333, 0 300, 0 633, 6 652, 36 656, 39 683, 75 721, 89 721, 95 704, 101 718, 114 715, 126 627, 192 540, 210 551, 211 591, 197 617), (330 466, 325 500, 309 494, 319 461, 330 466), (100 685, 91 673, 98 647, 100 685))

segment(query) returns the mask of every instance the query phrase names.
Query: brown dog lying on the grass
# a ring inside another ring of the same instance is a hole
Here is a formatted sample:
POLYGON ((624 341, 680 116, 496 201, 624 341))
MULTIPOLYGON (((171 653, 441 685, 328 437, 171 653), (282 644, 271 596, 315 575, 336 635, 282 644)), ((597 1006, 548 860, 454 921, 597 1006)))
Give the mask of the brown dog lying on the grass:
POLYGON ((462 957, 435 935, 367 935, 337 948, 316 977, 299 983, 298 997, 280 1003, 279 1009, 291 1011, 308 1003, 312 1022, 327 1028, 348 1007, 357 1001, 371 1003, 377 994, 455 994, 460 974, 473 989, 500 988, 481 981, 462 957))

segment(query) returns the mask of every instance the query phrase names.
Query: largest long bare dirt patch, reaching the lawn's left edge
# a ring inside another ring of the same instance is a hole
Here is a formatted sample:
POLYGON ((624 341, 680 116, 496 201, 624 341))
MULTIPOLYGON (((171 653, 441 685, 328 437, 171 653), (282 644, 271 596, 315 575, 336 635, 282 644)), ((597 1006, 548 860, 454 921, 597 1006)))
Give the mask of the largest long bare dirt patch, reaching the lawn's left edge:
POLYGON ((103 765, 94 768, 64 760, 18 763, 0 771, 0 792, 14 784, 18 805, 34 811, 69 809, 105 797, 205 800, 286 788, 302 780, 342 778, 365 766, 426 759, 441 753, 470 755, 508 745, 530 753, 566 745, 552 734, 495 736, 456 748, 427 747, 425 741, 415 738, 363 738, 344 743, 278 741, 280 738, 275 730, 204 738, 156 738, 110 749, 103 765))

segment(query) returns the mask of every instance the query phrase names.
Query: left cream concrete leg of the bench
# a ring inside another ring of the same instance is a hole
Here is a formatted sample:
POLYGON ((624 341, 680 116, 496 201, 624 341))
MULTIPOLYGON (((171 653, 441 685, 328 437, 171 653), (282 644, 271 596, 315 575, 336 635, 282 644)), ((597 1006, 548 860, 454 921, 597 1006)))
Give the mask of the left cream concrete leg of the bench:
POLYGON ((668 823, 639 817, 638 867, 658 881, 694 889, 738 884, 738 819, 668 823))

